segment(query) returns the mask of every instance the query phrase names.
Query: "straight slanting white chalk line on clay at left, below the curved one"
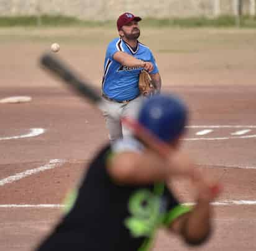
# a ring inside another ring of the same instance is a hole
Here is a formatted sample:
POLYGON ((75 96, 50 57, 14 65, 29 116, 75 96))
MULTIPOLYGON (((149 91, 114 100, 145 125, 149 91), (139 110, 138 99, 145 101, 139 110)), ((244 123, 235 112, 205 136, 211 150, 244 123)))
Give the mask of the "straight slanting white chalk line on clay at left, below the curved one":
POLYGON ((25 170, 19 174, 11 175, 7 178, 3 178, 0 180, 0 186, 6 185, 8 183, 15 182, 17 180, 21 180, 21 178, 25 178, 32 174, 37 174, 38 172, 43 172, 44 170, 53 169, 60 164, 63 164, 65 161, 62 159, 52 159, 48 164, 42 165, 41 167, 37 167, 35 169, 25 170))

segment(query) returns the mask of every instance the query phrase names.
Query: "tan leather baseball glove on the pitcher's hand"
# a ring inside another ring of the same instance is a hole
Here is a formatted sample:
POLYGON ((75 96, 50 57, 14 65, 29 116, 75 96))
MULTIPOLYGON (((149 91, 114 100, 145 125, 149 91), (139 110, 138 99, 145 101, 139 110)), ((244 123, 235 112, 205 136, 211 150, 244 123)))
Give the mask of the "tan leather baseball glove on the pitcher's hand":
POLYGON ((144 69, 140 71, 139 90, 140 93, 144 96, 151 96, 155 92, 155 87, 152 78, 150 77, 150 74, 144 69))

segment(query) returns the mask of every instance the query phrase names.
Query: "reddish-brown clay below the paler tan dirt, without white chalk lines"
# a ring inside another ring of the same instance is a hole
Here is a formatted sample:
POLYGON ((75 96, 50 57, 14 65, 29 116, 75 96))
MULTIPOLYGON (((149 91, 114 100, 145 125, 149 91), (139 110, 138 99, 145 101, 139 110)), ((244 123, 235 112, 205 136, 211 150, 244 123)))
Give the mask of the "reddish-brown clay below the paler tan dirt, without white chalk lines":
MULTIPOLYGON (((234 92, 230 90, 228 97, 213 87, 193 87, 192 91, 176 87, 173 91, 193 104, 191 125, 256 125, 256 89, 249 87, 247 93, 243 86, 238 90, 238 87, 234 92), (238 99, 240 102, 232 101, 238 99), (200 103, 204 103, 203 107, 200 103)), ((50 159, 65 159, 66 164, 2 186, 0 202, 1 205, 60 204, 68 188, 79 180, 84 162, 107 140, 104 121, 87 103, 65 90, 29 89, 26 94, 33 97, 31 103, 1 105, 4 118, 1 137, 22 133, 27 128, 42 127, 47 131, 34 138, 1 141, 0 178, 34 169, 50 159)), ((4 96, 8 95, 12 92, 5 90, 4 96)), ((255 169, 223 165, 254 165, 254 144, 255 138, 185 141, 185 148, 204 167, 209 167, 204 169, 206 172, 224 183, 219 200, 255 200, 255 169)), ((186 199, 189 196, 184 191, 181 196, 186 199)), ((0 208, 0 211, 1 250, 10 251, 32 249, 60 216, 57 208, 0 208)), ((216 231, 209 244, 201 249, 254 250, 254 218, 255 206, 216 206, 216 231)), ((178 240, 162 233, 155 250, 183 250, 182 247, 178 240)))

